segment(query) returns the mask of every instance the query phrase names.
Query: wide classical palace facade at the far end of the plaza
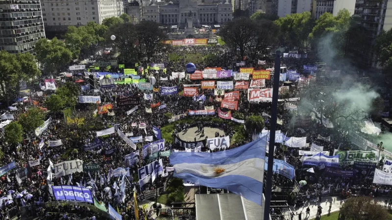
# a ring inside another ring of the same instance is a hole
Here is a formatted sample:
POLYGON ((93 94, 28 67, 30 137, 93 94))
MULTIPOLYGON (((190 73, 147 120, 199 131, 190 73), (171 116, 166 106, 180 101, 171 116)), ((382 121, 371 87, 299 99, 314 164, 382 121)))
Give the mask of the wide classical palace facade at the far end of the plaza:
POLYGON ((128 15, 138 21, 153 21, 163 25, 177 25, 184 28, 189 18, 195 27, 222 24, 233 18, 233 6, 229 2, 214 0, 179 0, 169 2, 140 1, 129 3, 128 15), (192 16, 188 16, 190 14, 192 16))

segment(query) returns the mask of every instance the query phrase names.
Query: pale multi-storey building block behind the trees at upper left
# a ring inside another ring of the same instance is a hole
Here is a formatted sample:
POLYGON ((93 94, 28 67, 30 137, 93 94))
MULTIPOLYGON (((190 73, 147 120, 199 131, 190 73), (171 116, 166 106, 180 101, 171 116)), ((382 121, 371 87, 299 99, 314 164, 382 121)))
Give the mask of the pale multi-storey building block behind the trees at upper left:
POLYGON ((124 12, 123 0, 42 0, 41 5, 49 38, 61 36, 70 25, 101 24, 104 19, 119 17, 124 12))

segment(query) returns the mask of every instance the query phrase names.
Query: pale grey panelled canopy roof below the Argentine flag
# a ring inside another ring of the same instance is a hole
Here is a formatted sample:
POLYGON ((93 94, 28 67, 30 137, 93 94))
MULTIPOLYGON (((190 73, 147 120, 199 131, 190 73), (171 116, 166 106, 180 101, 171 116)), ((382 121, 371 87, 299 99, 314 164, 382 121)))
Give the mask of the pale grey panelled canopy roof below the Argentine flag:
POLYGON ((260 220, 264 216, 264 195, 262 206, 232 193, 196 194, 195 201, 196 220, 260 220))

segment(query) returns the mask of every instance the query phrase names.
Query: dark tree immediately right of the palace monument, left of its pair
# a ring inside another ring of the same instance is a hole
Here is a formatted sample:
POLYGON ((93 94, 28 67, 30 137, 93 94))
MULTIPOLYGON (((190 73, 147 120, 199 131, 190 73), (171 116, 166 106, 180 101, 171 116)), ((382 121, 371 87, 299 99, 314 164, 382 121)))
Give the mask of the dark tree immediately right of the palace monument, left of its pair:
POLYGON ((232 50, 240 50, 240 60, 245 55, 246 45, 256 38, 254 33, 255 26, 255 23, 249 18, 241 17, 227 22, 220 30, 222 40, 232 50))

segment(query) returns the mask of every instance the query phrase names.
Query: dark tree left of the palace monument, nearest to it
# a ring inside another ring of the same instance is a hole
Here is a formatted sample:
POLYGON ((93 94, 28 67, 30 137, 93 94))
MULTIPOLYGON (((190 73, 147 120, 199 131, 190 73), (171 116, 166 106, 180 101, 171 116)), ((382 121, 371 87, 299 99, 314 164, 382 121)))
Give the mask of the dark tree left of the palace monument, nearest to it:
POLYGON ((154 54, 162 50, 162 42, 166 39, 166 35, 159 28, 159 24, 152 21, 142 21, 136 24, 136 33, 139 42, 136 47, 139 60, 147 57, 149 63, 154 54))

